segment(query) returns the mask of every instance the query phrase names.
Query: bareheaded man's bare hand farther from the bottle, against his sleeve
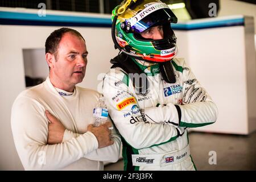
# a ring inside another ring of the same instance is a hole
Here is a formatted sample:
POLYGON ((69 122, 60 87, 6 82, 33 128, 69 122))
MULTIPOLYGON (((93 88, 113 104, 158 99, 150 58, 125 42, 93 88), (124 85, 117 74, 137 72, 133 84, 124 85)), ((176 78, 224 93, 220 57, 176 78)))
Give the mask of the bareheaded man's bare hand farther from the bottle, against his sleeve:
POLYGON ((61 143, 64 136, 65 127, 59 119, 54 117, 48 110, 46 110, 46 117, 49 120, 48 124, 48 144, 61 143))

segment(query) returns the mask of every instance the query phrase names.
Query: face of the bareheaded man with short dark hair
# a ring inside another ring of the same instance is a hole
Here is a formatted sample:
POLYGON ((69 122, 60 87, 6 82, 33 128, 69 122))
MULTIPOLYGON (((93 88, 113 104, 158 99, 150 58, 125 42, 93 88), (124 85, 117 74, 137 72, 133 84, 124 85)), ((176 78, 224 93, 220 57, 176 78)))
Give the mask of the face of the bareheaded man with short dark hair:
POLYGON ((74 86, 85 76, 87 55, 85 42, 70 32, 63 35, 51 67, 53 79, 65 86, 74 86))

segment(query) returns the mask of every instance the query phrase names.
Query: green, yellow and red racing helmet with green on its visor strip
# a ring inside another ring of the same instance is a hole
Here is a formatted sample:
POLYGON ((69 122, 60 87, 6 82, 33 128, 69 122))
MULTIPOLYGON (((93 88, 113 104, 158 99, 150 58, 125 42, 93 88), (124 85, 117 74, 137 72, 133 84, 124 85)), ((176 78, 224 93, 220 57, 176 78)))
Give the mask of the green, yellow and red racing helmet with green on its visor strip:
POLYGON ((112 11, 112 38, 115 48, 152 63, 172 60, 177 54, 176 37, 171 23, 177 17, 159 0, 125 0, 112 11), (145 39, 141 32, 162 25, 163 39, 145 39))

